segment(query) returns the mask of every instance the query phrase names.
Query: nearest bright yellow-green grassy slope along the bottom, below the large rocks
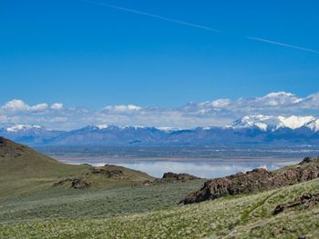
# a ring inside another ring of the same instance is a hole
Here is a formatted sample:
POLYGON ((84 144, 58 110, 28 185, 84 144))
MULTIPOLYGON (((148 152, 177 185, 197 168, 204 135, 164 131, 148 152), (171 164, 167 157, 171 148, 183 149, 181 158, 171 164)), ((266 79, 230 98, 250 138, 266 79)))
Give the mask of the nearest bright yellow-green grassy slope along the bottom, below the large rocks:
POLYGON ((112 218, 0 224, 0 238, 319 238, 319 205, 273 215, 277 204, 319 190, 319 180, 259 194, 112 218))

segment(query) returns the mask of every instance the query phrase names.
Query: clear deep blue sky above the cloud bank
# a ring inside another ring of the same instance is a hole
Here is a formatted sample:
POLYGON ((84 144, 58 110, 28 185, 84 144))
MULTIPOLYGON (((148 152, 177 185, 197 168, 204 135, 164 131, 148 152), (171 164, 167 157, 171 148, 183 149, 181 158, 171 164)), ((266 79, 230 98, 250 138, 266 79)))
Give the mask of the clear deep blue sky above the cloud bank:
POLYGON ((2 0, 0 104, 97 111, 305 98, 319 88, 318 11, 307 0, 2 0))

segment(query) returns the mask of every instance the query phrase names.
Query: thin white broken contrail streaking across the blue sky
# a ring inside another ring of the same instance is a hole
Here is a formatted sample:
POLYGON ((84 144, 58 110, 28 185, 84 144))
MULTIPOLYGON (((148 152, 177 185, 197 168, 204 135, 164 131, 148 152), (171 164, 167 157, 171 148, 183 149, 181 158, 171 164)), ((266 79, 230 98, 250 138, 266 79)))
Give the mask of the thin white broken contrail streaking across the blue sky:
MULTIPOLYGON (((139 11, 139 10, 136 10, 136 9, 122 7, 122 6, 118 6, 118 5, 109 5, 109 4, 106 4, 106 3, 98 3, 98 2, 92 2, 92 1, 87 1, 87 0, 80 0, 80 1, 88 3, 88 4, 93 4, 93 5, 106 6, 106 7, 109 7, 109 8, 117 9, 119 11, 129 12, 131 14, 145 15, 145 16, 149 16, 149 17, 152 17, 152 18, 160 19, 160 20, 163 20, 163 21, 166 21, 166 22, 171 22, 171 23, 180 24, 180 25, 188 25, 190 27, 195 27, 195 28, 199 28, 199 29, 202 29, 202 30, 210 31, 210 32, 213 32, 213 33, 221 34, 220 30, 211 28, 211 27, 206 26, 206 25, 192 24, 192 23, 189 23, 189 22, 180 21, 178 19, 174 19, 174 18, 162 16, 162 15, 153 15, 153 14, 142 12, 142 11, 139 11)), ((300 51, 304 51, 304 52, 310 52, 310 53, 314 53, 314 54, 319 54, 319 51, 317 51, 317 50, 314 50, 314 49, 311 49, 311 48, 307 48, 307 47, 303 47, 303 46, 299 46, 299 45, 289 45, 289 44, 280 43, 280 42, 276 42, 276 41, 273 41, 273 40, 269 40, 269 39, 265 39, 265 38, 261 38, 261 37, 255 37, 255 36, 245 36, 245 38, 249 39, 249 40, 252 40, 252 41, 258 41, 258 42, 268 43, 268 44, 272 44, 272 45, 279 45, 279 46, 283 46, 283 47, 287 47, 287 48, 291 48, 291 49, 295 49, 295 50, 300 50, 300 51)))

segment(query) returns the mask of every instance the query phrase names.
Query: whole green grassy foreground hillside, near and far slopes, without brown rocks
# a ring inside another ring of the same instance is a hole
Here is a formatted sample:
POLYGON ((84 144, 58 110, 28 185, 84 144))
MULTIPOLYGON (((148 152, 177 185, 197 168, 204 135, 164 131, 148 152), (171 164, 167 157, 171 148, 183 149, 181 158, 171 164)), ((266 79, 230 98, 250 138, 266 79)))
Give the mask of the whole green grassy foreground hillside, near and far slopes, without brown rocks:
POLYGON ((319 238, 319 204, 273 215, 277 204, 319 193, 319 179, 178 205, 204 180, 145 186, 147 174, 107 169, 125 177, 92 174, 89 165, 61 164, 0 140, 0 238, 319 238), (93 184, 81 190, 52 186, 67 177, 93 184))

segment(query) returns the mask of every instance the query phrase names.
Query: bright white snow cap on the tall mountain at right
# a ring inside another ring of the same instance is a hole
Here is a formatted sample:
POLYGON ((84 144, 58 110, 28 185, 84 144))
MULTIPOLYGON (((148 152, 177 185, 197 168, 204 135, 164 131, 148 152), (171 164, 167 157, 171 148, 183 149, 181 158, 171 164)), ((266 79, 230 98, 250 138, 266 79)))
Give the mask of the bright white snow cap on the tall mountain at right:
POLYGON ((247 115, 234 121, 226 128, 241 130, 246 128, 258 128, 262 131, 276 131, 280 128, 298 129, 307 127, 314 132, 319 131, 319 119, 314 116, 271 116, 271 115, 247 115))

